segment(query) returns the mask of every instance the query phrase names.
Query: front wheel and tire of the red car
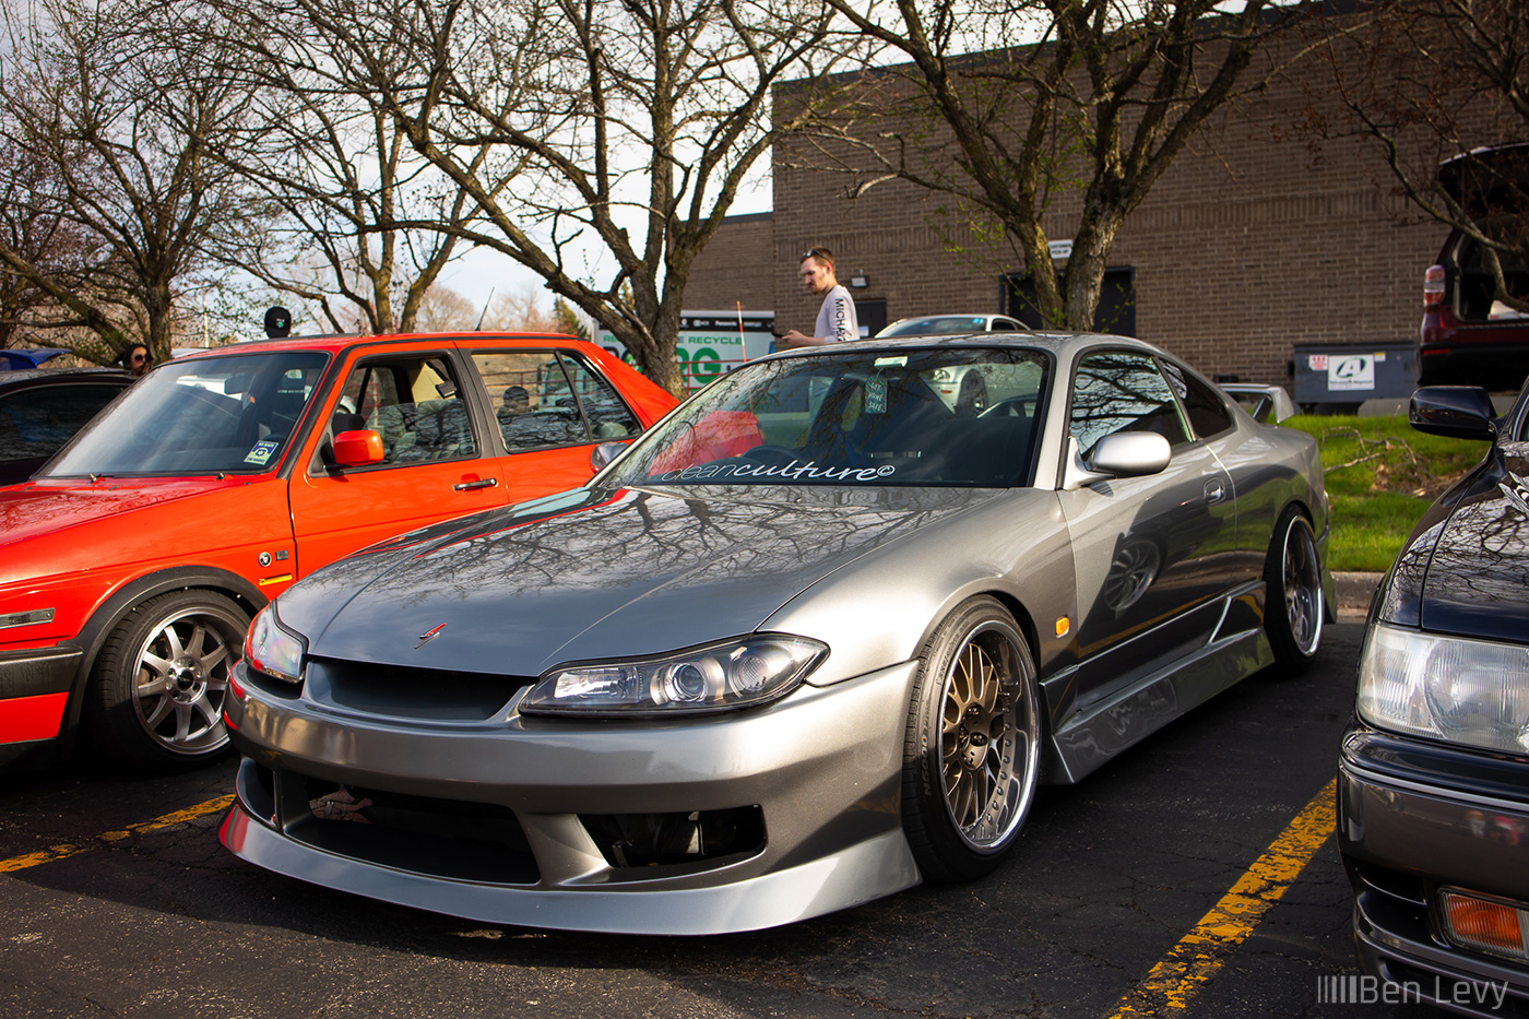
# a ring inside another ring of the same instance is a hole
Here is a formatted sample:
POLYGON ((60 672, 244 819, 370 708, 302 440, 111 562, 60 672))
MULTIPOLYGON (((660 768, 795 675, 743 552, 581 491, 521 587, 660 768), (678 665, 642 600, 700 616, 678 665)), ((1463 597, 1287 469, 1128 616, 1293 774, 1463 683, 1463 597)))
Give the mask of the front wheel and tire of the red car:
POLYGON ((145 771, 225 756, 223 698, 249 617, 214 591, 174 591, 135 607, 101 647, 86 722, 101 753, 145 771))

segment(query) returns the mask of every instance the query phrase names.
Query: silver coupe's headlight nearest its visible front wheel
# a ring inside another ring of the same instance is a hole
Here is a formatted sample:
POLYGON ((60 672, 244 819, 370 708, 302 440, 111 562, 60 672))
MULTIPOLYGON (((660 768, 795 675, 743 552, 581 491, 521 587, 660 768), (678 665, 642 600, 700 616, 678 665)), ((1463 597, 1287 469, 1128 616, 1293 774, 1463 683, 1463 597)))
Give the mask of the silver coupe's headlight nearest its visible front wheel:
POLYGON ((804 636, 760 633, 624 663, 549 672, 524 715, 671 716, 754 707, 784 696, 829 653, 804 636))

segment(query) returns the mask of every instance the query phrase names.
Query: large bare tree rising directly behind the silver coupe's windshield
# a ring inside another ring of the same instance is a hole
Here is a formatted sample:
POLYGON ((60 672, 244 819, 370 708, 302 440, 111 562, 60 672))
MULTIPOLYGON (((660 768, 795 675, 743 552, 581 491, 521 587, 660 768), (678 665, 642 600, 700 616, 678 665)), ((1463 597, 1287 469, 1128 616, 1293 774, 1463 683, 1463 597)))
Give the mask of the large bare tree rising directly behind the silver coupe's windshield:
POLYGON ((680 298, 758 158, 771 87, 813 80, 810 0, 255 0, 283 35, 329 40, 367 95, 476 207, 399 214, 531 268, 679 392, 680 298), (627 297, 630 294, 630 297, 627 297))

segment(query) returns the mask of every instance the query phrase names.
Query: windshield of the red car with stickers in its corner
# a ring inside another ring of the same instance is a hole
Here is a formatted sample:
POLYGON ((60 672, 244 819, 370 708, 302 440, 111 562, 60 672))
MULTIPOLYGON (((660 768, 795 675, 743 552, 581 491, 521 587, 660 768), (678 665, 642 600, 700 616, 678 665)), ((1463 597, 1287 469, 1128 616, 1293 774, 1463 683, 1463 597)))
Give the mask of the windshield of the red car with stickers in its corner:
POLYGON ((43 476, 268 471, 326 361, 306 350, 171 361, 135 383, 43 476))

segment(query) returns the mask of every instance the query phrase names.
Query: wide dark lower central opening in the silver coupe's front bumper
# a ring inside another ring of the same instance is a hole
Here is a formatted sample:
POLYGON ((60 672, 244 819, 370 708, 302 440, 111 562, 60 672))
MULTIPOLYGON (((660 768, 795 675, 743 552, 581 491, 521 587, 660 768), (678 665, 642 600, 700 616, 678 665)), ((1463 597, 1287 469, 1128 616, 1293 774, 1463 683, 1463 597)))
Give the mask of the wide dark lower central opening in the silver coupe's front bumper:
MULTIPOLYGON (((535 884, 537 861, 515 812, 387 789, 303 779, 286 834, 317 849, 456 881, 535 884)), ((292 802, 292 800, 289 800, 292 802)))

